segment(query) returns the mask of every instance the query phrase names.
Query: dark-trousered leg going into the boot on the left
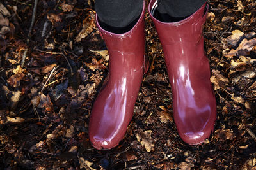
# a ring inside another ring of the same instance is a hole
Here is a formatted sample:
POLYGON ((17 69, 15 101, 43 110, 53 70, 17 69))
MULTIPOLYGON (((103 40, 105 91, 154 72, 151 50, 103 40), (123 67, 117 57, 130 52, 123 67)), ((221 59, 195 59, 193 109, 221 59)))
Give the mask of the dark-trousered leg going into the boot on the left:
POLYGON ((124 33, 132 29, 142 8, 143 0, 95 0, 100 26, 114 33, 124 33))

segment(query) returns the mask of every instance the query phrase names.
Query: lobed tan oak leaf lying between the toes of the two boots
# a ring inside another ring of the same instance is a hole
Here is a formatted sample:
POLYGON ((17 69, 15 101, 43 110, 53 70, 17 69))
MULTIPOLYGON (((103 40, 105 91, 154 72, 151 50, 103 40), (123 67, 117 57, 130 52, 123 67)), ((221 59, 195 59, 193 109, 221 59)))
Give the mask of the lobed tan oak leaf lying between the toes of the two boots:
POLYGON ((152 131, 148 130, 143 133, 137 133, 136 138, 145 147, 147 152, 154 150, 153 138, 151 137, 152 131))

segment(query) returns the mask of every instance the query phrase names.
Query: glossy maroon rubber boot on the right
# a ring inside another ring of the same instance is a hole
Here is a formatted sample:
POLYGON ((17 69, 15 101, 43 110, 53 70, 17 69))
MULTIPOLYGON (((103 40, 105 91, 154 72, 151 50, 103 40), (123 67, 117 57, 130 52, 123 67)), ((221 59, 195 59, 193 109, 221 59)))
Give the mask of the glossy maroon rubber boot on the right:
POLYGON ((179 22, 160 22, 154 17, 156 8, 157 1, 150 1, 148 11, 163 46, 172 87, 174 121, 180 138, 196 145, 209 138, 216 120, 216 101, 202 36, 208 6, 204 4, 179 22))

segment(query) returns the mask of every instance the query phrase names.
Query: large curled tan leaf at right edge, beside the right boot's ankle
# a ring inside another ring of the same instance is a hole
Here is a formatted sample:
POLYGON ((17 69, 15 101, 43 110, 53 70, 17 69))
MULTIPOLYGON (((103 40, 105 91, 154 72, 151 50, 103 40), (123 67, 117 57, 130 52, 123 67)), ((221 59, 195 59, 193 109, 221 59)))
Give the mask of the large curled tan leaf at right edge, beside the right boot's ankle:
POLYGON ((245 56, 252 51, 256 45, 256 38, 250 39, 249 41, 244 38, 236 49, 230 50, 225 57, 232 58, 233 56, 245 56))

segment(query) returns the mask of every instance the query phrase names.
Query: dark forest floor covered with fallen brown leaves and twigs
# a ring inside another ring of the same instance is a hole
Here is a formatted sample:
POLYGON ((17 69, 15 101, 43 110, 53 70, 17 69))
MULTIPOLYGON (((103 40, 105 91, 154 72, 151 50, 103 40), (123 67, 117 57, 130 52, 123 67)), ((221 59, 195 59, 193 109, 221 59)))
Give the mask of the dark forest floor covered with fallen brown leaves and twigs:
MULTIPOLYGON (((256 169, 256 3, 208 1, 205 53, 218 117, 211 138, 177 133, 163 50, 145 13, 150 69, 127 134, 111 150, 88 139, 108 52, 93 0, 0 2, 0 169, 256 169)), ((147 1, 148 4, 148 1, 147 1)))

